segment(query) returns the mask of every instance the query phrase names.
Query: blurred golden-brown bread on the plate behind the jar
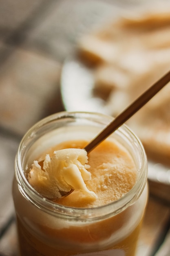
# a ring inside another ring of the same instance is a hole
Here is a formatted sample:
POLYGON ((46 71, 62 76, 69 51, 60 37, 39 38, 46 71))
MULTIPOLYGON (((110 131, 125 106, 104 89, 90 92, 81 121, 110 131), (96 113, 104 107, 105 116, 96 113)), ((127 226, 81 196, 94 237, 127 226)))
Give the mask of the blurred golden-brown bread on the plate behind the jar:
MULTIPOLYGON (((94 93, 118 115, 170 70, 170 4, 109 21, 79 41, 94 93)), ((128 121, 152 155, 170 157, 170 84, 128 121)))

